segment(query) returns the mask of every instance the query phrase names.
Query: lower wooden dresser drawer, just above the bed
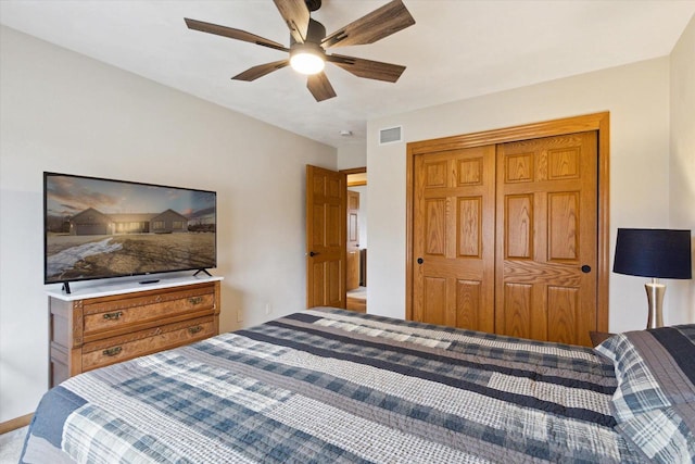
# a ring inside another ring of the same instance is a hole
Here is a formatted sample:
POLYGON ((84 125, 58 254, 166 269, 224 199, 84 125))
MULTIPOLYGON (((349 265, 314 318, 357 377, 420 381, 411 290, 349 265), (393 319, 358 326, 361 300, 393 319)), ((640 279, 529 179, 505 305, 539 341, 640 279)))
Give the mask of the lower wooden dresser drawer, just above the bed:
POLYGON ((83 372, 154 353, 216 335, 214 318, 199 317, 181 323, 112 337, 83 347, 83 372))

